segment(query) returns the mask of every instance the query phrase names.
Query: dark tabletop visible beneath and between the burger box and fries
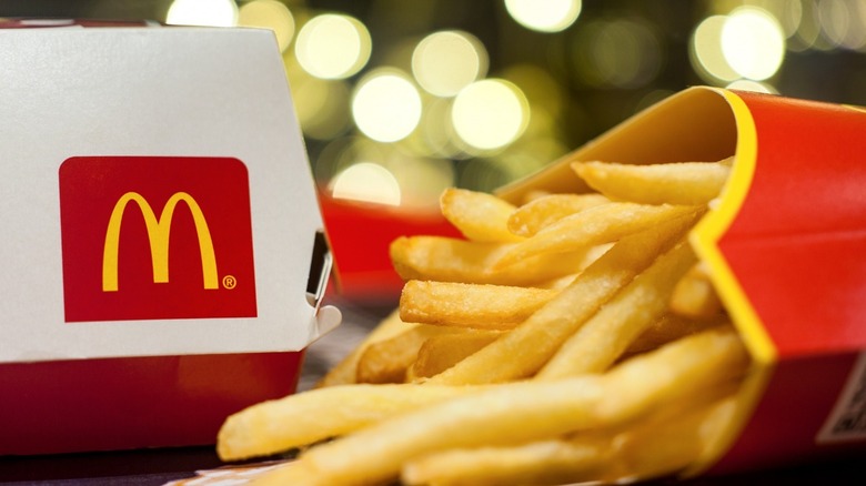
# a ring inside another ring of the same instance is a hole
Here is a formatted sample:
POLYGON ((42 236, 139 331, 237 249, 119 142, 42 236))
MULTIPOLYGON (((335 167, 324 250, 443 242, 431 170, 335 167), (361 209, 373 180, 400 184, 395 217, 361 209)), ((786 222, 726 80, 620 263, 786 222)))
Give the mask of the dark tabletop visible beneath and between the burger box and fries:
MULTIPOLYGON (((385 306, 367 307, 340 303, 343 325, 313 343, 306 353, 299 389, 309 389, 341 360, 381 317, 385 306)), ((2 434, 2 431, 0 431, 2 434)), ((50 456, 0 457, 0 484, 44 486, 132 485, 160 486, 190 478, 199 469, 223 464, 213 447, 183 447, 50 456)), ((664 479, 659 486, 733 485, 866 485, 866 453, 819 464, 689 480, 664 479)))

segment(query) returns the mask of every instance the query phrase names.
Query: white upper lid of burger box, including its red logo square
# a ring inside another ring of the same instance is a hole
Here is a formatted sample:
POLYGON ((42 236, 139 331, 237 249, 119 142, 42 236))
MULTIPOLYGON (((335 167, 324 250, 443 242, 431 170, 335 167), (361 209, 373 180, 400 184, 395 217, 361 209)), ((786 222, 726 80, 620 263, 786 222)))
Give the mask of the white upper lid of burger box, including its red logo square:
POLYGON ((298 351, 339 324, 270 31, 0 30, 0 362, 298 351))

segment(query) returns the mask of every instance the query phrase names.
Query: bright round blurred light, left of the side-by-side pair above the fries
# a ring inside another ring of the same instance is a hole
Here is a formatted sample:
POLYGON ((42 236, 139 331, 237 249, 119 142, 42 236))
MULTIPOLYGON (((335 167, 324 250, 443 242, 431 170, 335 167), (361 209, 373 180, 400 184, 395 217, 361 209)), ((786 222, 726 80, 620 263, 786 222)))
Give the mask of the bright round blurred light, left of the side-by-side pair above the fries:
POLYGON ((358 128, 380 142, 409 136, 421 120, 421 94, 406 75, 380 70, 358 83, 352 117, 358 128))

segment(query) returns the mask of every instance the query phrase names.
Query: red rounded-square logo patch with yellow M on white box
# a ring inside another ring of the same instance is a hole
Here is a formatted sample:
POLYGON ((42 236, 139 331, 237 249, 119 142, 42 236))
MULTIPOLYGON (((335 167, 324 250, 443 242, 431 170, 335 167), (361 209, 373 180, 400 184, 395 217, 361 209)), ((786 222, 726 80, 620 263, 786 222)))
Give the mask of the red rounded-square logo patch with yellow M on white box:
POLYGON ((59 181, 67 322, 256 315, 241 161, 79 156, 59 181))

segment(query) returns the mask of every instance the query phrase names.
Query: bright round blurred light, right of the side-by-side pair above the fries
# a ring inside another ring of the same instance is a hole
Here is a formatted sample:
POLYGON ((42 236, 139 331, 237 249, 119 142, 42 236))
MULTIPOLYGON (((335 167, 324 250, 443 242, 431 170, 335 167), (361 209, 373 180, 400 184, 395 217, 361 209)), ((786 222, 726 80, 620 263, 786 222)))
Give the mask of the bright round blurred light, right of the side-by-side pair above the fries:
POLYGON ((482 151, 501 149, 516 140, 530 119, 528 103, 513 83, 500 79, 476 81, 454 99, 451 120, 460 139, 482 151))

